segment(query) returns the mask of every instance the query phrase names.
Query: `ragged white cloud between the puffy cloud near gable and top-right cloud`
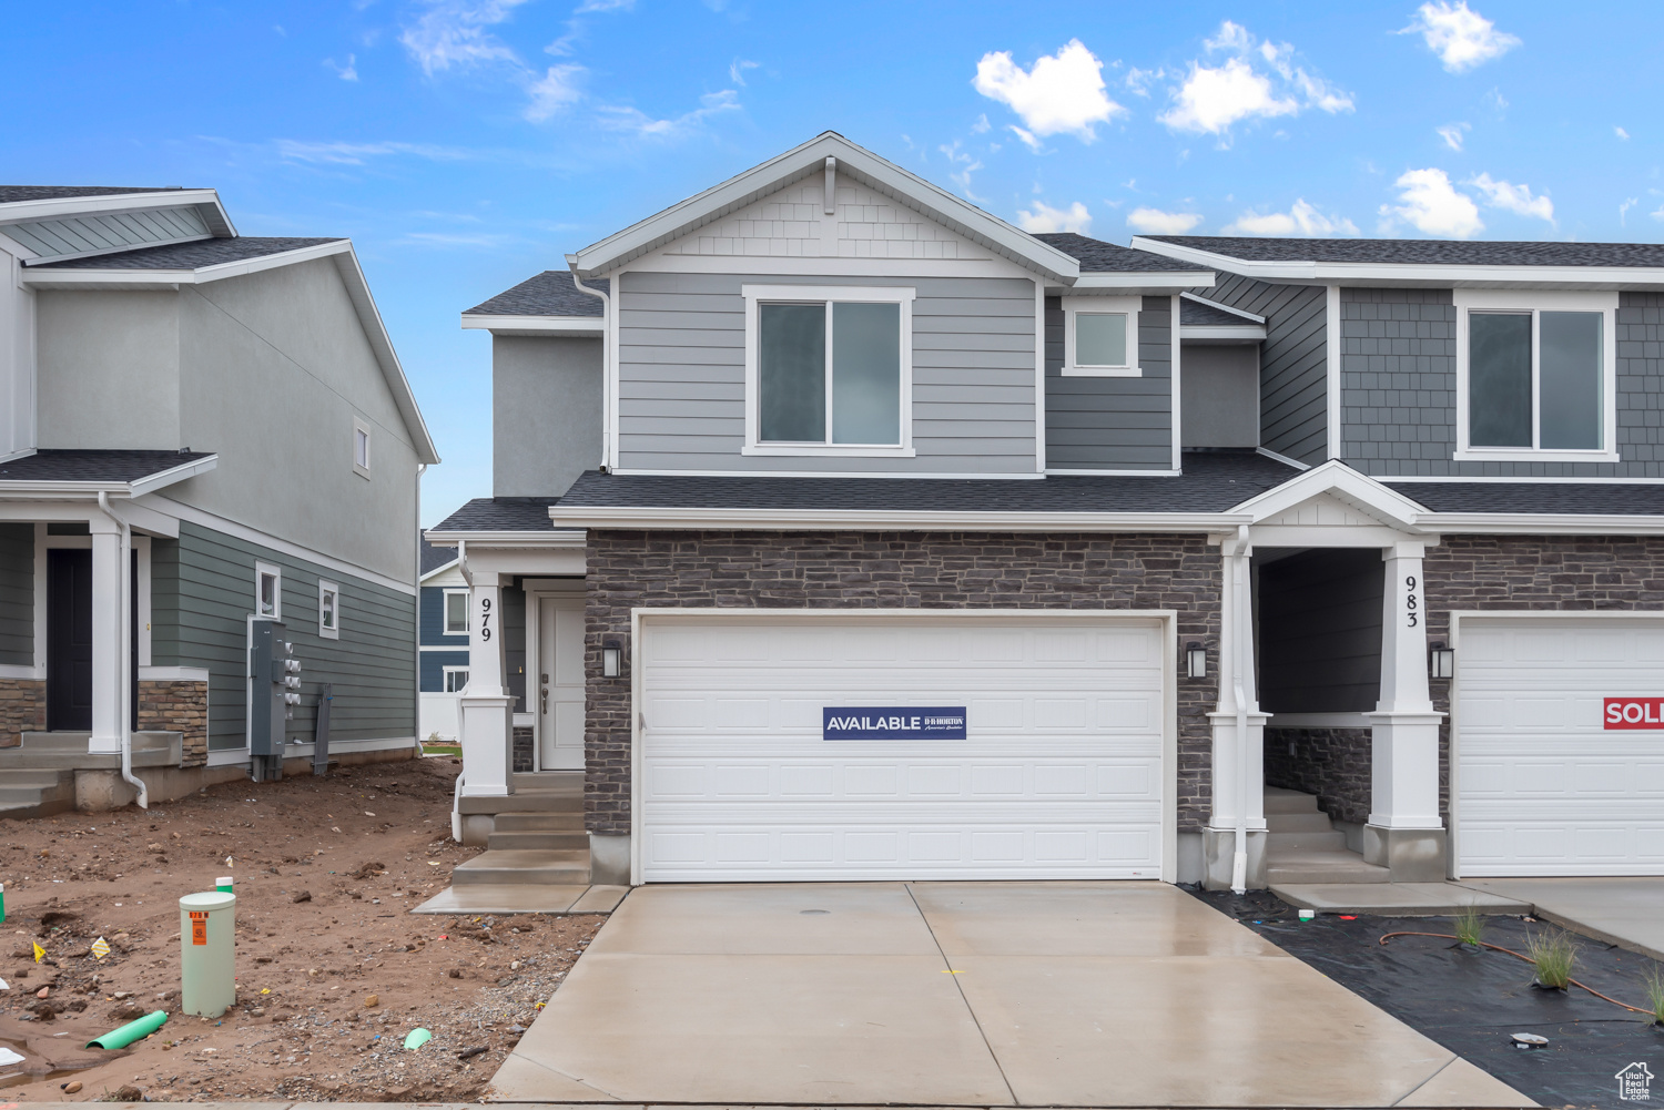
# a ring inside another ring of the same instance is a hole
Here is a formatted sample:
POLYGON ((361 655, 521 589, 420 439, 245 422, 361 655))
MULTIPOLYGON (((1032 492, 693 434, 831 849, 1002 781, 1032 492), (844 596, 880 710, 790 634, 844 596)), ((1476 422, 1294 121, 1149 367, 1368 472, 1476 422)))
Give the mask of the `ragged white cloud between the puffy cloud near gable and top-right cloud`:
POLYGON ((1225 138, 1243 120, 1298 115, 1305 108, 1335 115, 1354 107, 1351 95, 1295 65, 1291 45, 1260 42, 1240 23, 1225 20, 1203 45, 1235 57, 1223 65, 1190 63, 1185 82, 1173 90, 1173 107, 1156 116, 1175 131, 1225 138))

